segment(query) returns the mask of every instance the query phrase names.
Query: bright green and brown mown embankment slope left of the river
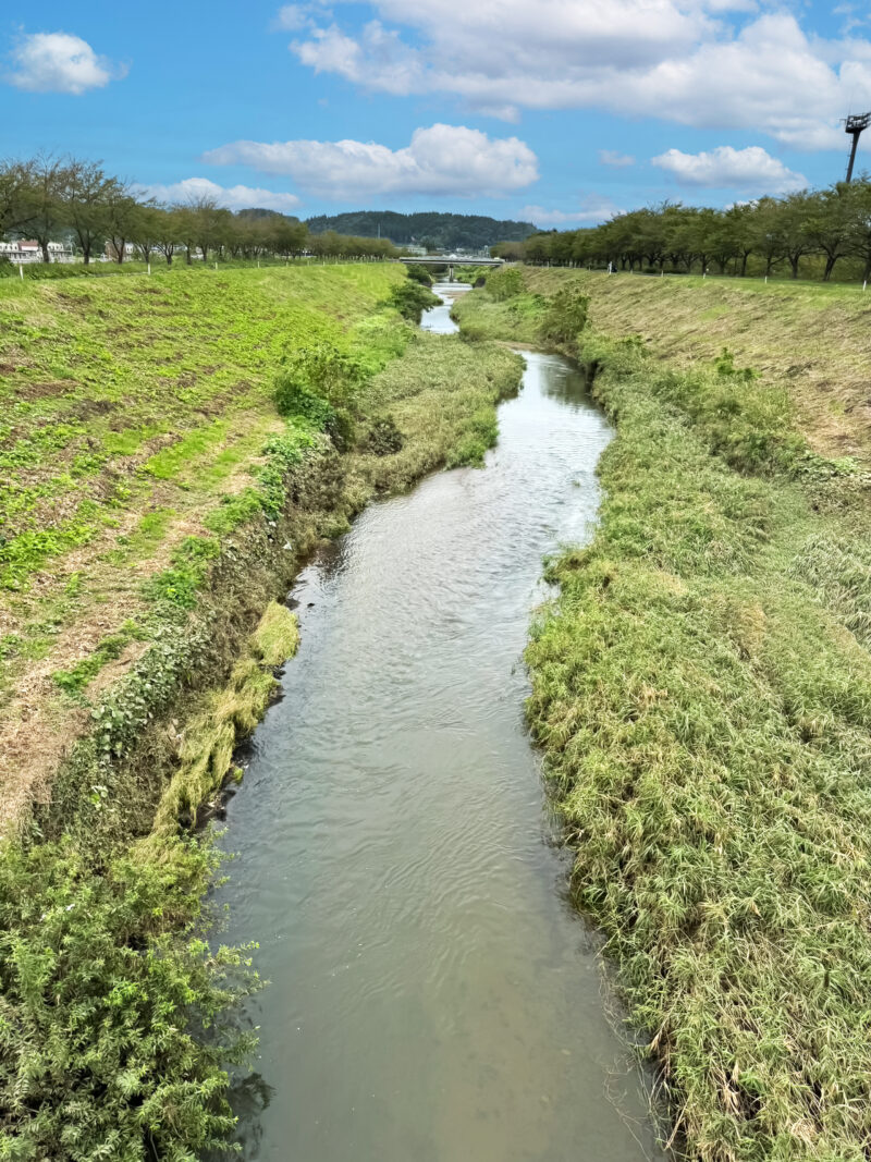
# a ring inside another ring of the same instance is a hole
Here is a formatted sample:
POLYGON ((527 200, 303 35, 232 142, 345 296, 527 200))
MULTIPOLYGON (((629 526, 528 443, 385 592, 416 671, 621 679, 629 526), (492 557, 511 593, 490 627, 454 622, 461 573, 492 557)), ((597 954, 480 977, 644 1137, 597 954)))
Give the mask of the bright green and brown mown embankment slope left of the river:
MULTIPOLYGON (((264 447, 308 438, 275 410, 280 360, 321 342, 376 373, 410 333, 388 303, 402 279, 350 265, 0 286, 8 782, 58 761, 69 711, 52 675, 96 677, 100 643, 147 617, 145 582, 175 546, 262 509, 264 447), (77 600, 64 600, 72 578, 77 600)), ((21 803, 7 795, 0 815, 21 803)))

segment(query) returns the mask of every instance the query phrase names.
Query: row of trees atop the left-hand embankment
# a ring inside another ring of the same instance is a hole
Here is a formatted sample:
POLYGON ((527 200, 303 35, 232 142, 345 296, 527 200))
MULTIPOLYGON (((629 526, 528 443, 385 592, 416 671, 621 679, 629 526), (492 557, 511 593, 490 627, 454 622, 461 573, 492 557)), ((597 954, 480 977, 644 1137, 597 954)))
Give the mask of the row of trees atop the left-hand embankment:
POLYGON ((0 238, 33 239, 45 263, 51 242, 71 242, 86 264, 103 254, 123 263, 131 251, 145 263, 161 256, 167 265, 174 258, 398 254, 386 238, 310 234, 298 218, 253 208, 233 213, 214 198, 161 205, 98 162, 45 155, 0 160, 0 238))

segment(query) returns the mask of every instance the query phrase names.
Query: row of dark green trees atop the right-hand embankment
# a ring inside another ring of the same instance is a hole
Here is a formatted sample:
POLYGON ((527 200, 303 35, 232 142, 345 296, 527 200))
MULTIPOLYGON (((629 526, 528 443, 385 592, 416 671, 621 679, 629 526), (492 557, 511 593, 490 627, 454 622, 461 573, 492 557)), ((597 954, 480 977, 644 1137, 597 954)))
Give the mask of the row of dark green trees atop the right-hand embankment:
POLYGON ((532 264, 744 277, 799 273, 871 279, 871 179, 760 198, 727 209, 663 202, 602 225, 553 230, 492 248, 532 264))

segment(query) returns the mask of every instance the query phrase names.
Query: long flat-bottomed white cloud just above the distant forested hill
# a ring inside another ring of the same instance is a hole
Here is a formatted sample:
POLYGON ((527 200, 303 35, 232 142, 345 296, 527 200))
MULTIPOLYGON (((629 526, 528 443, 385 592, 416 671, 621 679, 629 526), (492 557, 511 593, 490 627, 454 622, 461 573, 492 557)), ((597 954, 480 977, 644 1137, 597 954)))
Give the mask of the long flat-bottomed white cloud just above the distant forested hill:
POLYGON ((203 155, 213 165, 287 174, 322 198, 379 194, 489 196, 538 179, 538 159, 517 137, 491 138, 465 125, 416 129, 403 149, 375 142, 231 142, 203 155))

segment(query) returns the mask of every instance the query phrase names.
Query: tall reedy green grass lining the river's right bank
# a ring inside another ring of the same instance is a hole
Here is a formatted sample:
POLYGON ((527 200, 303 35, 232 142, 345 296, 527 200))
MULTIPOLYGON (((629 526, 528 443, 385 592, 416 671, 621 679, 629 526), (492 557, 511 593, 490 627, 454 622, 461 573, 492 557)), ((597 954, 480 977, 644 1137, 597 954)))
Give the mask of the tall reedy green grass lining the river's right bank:
MULTIPOLYGON (((677 292, 661 282, 667 345, 677 292)), ((599 285, 584 282, 600 324, 599 285)), ((649 296, 655 314, 655 287, 613 293, 649 296)), ((509 309, 523 321, 542 303, 469 295, 458 314, 509 337, 509 309)), ((868 478, 808 446, 806 401, 777 376, 729 358, 681 366, 595 332, 578 354, 617 438, 600 525, 553 561, 560 597, 528 651, 530 720, 577 901, 605 933, 690 1157, 858 1162, 871 1136, 868 478)))

